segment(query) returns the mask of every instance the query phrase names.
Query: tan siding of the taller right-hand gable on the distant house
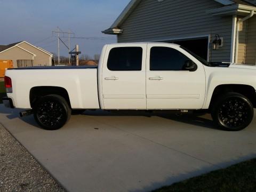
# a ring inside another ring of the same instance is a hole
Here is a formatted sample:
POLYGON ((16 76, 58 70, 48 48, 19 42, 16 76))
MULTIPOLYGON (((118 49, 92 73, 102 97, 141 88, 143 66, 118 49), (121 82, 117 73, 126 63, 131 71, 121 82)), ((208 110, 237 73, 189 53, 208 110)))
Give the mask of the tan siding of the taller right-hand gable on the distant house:
POLYGON ((36 55, 34 57, 34 66, 51 66, 52 65, 52 59, 49 54, 46 54, 43 51, 36 49, 35 47, 27 44, 26 42, 19 44, 19 46, 36 55))

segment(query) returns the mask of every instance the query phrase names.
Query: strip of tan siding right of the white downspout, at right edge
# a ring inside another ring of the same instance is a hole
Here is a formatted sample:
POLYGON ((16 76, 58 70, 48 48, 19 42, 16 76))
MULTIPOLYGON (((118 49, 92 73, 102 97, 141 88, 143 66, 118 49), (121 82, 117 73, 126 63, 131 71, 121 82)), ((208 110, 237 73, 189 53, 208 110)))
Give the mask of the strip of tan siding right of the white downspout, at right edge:
POLYGON ((256 16, 248 20, 245 63, 256 65, 256 16))

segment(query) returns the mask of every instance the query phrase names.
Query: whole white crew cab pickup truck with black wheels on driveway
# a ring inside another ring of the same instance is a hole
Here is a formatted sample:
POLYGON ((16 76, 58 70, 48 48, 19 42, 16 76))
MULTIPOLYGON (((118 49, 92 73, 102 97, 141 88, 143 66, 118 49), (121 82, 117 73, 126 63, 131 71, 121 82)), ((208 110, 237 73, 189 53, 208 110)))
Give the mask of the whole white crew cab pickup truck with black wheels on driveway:
POLYGON ((46 130, 65 125, 74 109, 206 109, 222 129, 248 126, 256 106, 254 66, 209 63, 177 44, 103 47, 98 67, 7 69, 6 106, 34 114, 46 130))

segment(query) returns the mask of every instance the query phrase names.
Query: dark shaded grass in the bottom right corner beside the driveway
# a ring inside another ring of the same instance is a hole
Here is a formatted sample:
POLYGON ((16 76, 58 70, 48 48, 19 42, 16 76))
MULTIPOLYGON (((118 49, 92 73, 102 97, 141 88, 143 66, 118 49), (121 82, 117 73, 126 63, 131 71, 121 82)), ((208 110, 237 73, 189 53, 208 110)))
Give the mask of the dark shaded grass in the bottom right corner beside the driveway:
POLYGON ((239 163, 227 169, 213 171, 191 178, 154 192, 211 191, 238 192, 256 191, 256 159, 239 163))

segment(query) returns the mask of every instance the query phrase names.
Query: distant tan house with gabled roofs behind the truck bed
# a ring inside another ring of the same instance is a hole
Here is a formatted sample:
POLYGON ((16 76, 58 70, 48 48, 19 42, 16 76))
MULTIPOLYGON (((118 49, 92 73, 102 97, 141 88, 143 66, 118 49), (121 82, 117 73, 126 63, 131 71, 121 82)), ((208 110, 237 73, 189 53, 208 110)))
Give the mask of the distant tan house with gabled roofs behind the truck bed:
POLYGON ((0 59, 12 60, 13 67, 51 66, 52 54, 26 41, 0 45, 0 59))

